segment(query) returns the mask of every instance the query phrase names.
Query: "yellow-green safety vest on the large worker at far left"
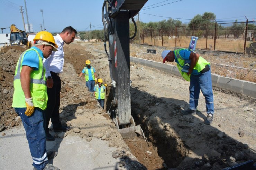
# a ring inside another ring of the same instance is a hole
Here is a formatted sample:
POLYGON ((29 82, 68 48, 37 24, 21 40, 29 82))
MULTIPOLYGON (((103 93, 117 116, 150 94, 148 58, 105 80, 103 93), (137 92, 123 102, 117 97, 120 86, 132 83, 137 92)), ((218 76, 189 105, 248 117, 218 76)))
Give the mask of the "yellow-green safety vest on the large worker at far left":
POLYGON ((42 110, 45 110, 47 107, 47 84, 45 78, 45 68, 43 66, 43 60, 40 54, 35 49, 26 50, 24 53, 20 55, 19 61, 16 66, 15 74, 14 74, 14 93, 13 93, 13 101, 12 107, 14 108, 26 108, 25 104, 25 95, 21 87, 20 82, 20 72, 22 70, 22 62, 23 57, 26 52, 34 50, 39 58, 39 69, 33 70, 30 74, 30 92, 33 99, 33 103, 35 107, 38 107, 42 110))

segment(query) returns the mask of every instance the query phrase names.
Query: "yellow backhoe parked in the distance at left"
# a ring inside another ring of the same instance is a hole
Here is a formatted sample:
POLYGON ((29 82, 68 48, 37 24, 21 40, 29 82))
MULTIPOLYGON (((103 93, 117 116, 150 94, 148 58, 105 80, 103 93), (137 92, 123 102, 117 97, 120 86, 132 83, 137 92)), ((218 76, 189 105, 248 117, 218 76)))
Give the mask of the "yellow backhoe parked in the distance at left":
MULTIPOLYGON (((28 41, 28 34, 25 31, 18 29, 14 24, 10 27, 10 45, 11 46, 25 46, 25 48, 31 47, 31 42, 28 41)), ((6 34, 8 36, 8 34, 6 34)))

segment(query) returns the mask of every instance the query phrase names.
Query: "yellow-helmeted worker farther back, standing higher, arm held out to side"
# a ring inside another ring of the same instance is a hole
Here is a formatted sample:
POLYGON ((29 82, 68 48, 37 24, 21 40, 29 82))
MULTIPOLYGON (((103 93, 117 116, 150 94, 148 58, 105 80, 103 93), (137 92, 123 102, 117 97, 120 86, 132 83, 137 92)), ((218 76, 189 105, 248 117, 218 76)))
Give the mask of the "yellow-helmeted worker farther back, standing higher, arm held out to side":
POLYGON ((93 66, 91 66, 91 61, 85 61, 86 67, 83 68, 82 72, 80 73, 79 77, 85 74, 85 81, 86 87, 88 87, 89 91, 93 92, 95 83, 97 82, 97 75, 96 71, 93 66))

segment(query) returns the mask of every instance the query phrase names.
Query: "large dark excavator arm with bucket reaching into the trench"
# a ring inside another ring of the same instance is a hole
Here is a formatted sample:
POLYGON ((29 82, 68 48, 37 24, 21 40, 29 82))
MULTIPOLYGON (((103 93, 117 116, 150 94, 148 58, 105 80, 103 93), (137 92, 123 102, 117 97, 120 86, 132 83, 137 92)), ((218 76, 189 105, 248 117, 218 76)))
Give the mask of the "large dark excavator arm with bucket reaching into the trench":
POLYGON ((148 0, 104 0, 102 22, 104 25, 105 52, 108 56, 112 80, 113 100, 109 115, 123 137, 141 136, 145 139, 140 125, 135 126, 131 116, 130 99, 130 39, 136 36, 136 23, 133 19, 148 0), (104 14, 104 10, 106 13, 104 14), (130 38, 129 19, 135 26, 130 38), (109 52, 106 48, 108 36, 109 52))

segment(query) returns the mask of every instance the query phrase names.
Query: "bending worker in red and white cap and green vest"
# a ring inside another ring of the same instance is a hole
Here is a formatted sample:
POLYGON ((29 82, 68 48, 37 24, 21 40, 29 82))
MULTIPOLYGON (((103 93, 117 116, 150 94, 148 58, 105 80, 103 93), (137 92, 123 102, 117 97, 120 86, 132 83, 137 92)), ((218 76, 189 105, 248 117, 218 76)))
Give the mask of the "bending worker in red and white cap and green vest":
POLYGON ((190 52, 188 49, 177 49, 174 51, 164 50, 161 57, 163 63, 176 62, 177 67, 182 77, 190 81, 189 86, 189 106, 187 110, 183 110, 182 114, 196 114, 200 89, 205 97, 207 118, 204 124, 210 125, 213 121, 214 104, 212 93, 212 80, 210 63, 195 52, 190 52), (188 73, 182 72, 185 60, 190 60, 188 73))

